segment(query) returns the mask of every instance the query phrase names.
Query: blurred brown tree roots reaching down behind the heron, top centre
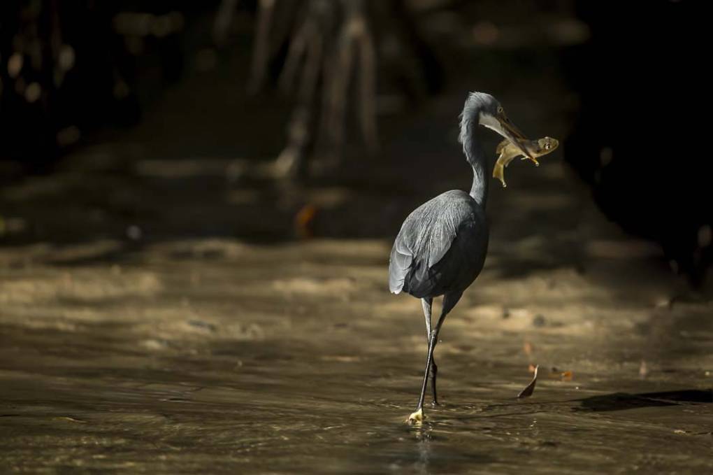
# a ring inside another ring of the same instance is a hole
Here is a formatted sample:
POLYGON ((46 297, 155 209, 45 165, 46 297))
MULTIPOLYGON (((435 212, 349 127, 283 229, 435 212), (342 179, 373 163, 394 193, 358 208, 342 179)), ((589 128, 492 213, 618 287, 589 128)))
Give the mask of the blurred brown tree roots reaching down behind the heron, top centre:
MULTIPOLYGON (((216 38, 222 38, 220 32, 228 22, 222 19, 234 3, 223 0, 215 24, 216 38)), ((391 78, 404 80, 401 86, 411 99, 416 91, 435 93, 441 88, 441 64, 416 25, 416 11, 424 7, 422 3, 258 2, 250 91, 264 88, 268 64, 278 63, 280 88, 294 91, 297 97, 287 126, 287 143, 272 175, 307 175, 312 155, 322 155, 322 161, 332 165, 339 163, 349 109, 354 109, 366 149, 374 153, 378 148, 379 73, 391 71, 391 78)))

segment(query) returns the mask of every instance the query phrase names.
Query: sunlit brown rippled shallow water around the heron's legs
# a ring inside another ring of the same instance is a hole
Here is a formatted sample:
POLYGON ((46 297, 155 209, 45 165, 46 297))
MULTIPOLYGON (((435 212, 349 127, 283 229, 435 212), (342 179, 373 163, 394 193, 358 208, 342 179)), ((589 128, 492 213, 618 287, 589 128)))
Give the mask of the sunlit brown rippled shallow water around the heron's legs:
POLYGON ((650 305, 617 300, 597 277, 604 265, 506 279, 497 246, 443 327, 442 405, 404 424, 425 330, 418 300, 384 290, 387 251, 198 240, 120 265, 4 270, 0 461, 33 472, 713 469, 709 306, 655 307, 652 282, 638 288, 650 305), (530 363, 538 387, 518 400, 530 363))

